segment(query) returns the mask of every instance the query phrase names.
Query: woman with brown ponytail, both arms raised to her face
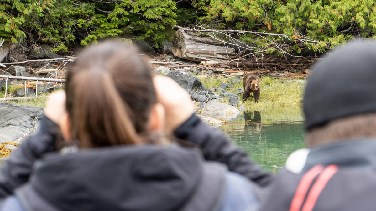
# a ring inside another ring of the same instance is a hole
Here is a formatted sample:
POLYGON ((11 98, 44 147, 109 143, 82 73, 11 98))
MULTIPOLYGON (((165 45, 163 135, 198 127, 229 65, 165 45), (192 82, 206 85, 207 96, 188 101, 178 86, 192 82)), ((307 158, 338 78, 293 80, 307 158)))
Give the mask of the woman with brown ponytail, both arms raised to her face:
POLYGON ((83 50, 49 96, 0 172, 0 210, 245 211, 271 181, 175 81, 112 40, 83 50))

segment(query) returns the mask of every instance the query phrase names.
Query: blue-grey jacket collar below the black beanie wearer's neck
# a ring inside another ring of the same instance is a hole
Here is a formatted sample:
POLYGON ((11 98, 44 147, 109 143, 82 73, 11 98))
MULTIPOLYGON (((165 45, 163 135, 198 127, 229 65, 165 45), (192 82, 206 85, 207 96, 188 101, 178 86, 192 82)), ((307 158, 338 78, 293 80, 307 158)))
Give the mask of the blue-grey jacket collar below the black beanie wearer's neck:
POLYGON ((332 145, 312 148, 302 172, 307 172, 317 164, 356 167, 364 171, 374 170, 376 169, 376 139, 338 140, 337 143, 332 145))

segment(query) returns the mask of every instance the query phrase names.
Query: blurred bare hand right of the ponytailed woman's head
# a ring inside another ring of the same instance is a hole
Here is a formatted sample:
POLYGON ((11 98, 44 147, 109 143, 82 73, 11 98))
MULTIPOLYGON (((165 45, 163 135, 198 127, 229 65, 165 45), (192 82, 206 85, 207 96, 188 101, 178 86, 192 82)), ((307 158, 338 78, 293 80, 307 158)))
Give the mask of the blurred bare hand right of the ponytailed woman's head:
POLYGON ((194 113, 190 95, 176 81, 167 76, 155 76, 157 100, 165 109, 165 130, 173 132, 194 113))

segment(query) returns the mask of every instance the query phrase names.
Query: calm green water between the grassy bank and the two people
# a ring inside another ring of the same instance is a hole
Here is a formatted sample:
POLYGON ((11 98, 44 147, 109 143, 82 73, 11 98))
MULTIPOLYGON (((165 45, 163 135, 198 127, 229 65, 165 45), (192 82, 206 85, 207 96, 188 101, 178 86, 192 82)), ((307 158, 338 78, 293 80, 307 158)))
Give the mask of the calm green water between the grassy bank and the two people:
POLYGON ((304 124, 302 118, 270 121, 266 116, 271 115, 244 114, 220 129, 264 169, 278 172, 292 152, 305 148, 304 124))

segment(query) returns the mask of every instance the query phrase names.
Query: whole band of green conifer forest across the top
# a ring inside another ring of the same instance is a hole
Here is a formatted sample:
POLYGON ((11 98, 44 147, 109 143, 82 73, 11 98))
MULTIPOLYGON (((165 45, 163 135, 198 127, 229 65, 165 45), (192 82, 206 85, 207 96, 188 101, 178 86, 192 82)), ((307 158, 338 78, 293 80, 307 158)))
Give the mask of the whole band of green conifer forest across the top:
MULTIPOLYGON (((251 52, 304 56, 322 53, 357 37, 375 39, 376 3, 374 0, 1 0, 0 4, 0 38, 6 40, 6 45, 18 46, 25 55, 36 45, 47 44, 55 52, 67 52, 109 37, 143 39, 159 48, 165 40, 173 38, 176 25, 224 30, 233 39, 255 47, 248 49, 251 52)), ((223 33, 212 35, 223 37, 223 33)))

